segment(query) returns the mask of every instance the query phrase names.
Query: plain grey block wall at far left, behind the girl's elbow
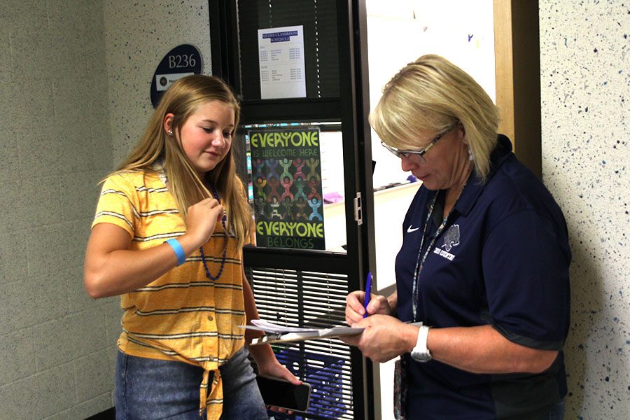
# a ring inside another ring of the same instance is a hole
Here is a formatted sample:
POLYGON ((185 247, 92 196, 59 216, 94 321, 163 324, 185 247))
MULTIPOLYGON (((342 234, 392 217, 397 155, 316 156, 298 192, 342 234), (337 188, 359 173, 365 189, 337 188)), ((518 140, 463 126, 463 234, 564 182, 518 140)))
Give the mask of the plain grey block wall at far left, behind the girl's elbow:
POLYGON ((119 304, 83 288, 97 183, 113 164, 107 89, 102 1, 3 0, 0 419, 111 407, 105 320, 119 304))

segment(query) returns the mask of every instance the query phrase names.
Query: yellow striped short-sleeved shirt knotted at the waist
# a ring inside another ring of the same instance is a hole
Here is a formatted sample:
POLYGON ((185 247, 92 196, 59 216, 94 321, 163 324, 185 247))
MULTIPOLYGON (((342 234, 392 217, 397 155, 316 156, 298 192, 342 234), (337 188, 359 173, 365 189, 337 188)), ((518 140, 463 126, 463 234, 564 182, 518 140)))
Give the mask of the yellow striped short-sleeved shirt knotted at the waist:
MULTIPOLYGON (((110 176, 103 184, 97 223, 112 223, 132 237, 132 250, 158 246, 186 232, 174 197, 156 172, 126 172, 110 176)), ((221 267, 225 232, 221 223, 204 255, 211 276, 221 267)), ((228 253, 221 277, 208 279, 199 251, 186 262, 132 293, 121 296, 123 332, 118 348, 130 356, 179 360, 203 367, 200 410, 218 419, 223 389, 218 367, 244 345, 242 251, 228 235, 228 253), (207 395, 209 371, 213 385, 207 395)))

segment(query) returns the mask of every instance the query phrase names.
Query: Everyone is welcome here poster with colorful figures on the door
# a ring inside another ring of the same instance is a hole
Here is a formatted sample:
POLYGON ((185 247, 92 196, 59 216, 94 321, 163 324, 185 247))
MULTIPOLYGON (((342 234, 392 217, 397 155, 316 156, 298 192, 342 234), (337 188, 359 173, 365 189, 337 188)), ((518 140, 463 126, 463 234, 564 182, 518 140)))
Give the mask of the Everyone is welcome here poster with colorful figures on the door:
POLYGON ((325 249, 318 128, 249 130, 256 244, 325 249))

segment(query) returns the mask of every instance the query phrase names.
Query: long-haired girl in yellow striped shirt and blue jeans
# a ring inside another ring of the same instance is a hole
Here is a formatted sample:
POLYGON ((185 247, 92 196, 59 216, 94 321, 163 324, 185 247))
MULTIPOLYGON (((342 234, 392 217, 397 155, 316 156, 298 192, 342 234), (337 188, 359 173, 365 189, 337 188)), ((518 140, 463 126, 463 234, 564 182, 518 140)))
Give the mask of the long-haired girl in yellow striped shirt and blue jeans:
MULTIPOLYGON (((121 296, 118 419, 269 417, 239 328, 258 313, 242 265, 252 218, 238 123, 221 80, 177 80, 104 181, 84 278, 92 297, 121 296)), ((260 373, 300 383, 269 346, 250 351, 260 373)))

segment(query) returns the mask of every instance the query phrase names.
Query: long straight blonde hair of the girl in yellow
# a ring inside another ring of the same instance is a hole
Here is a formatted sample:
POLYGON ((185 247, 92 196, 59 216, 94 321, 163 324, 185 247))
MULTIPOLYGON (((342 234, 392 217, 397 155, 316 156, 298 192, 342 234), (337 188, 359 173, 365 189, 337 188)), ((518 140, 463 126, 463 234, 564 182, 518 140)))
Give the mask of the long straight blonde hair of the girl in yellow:
POLYGON ((137 146, 113 174, 135 170, 153 172, 154 165, 162 162, 168 175, 169 190, 184 221, 188 207, 212 197, 204 181, 211 183, 221 195, 221 204, 228 214, 228 232, 234 233, 239 249, 250 237, 252 218, 243 183, 236 174, 232 147, 225 158, 207 173, 207 179, 202 180, 176 140, 186 120, 200 105, 210 101, 223 102, 234 110, 233 137, 239 124, 240 106, 230 87, 214 76, 186 76, 176 80, 162 96, 137 146), (171 129, 177 136, 169 136, 165 131, 167 113, 174 114, 171 129))

